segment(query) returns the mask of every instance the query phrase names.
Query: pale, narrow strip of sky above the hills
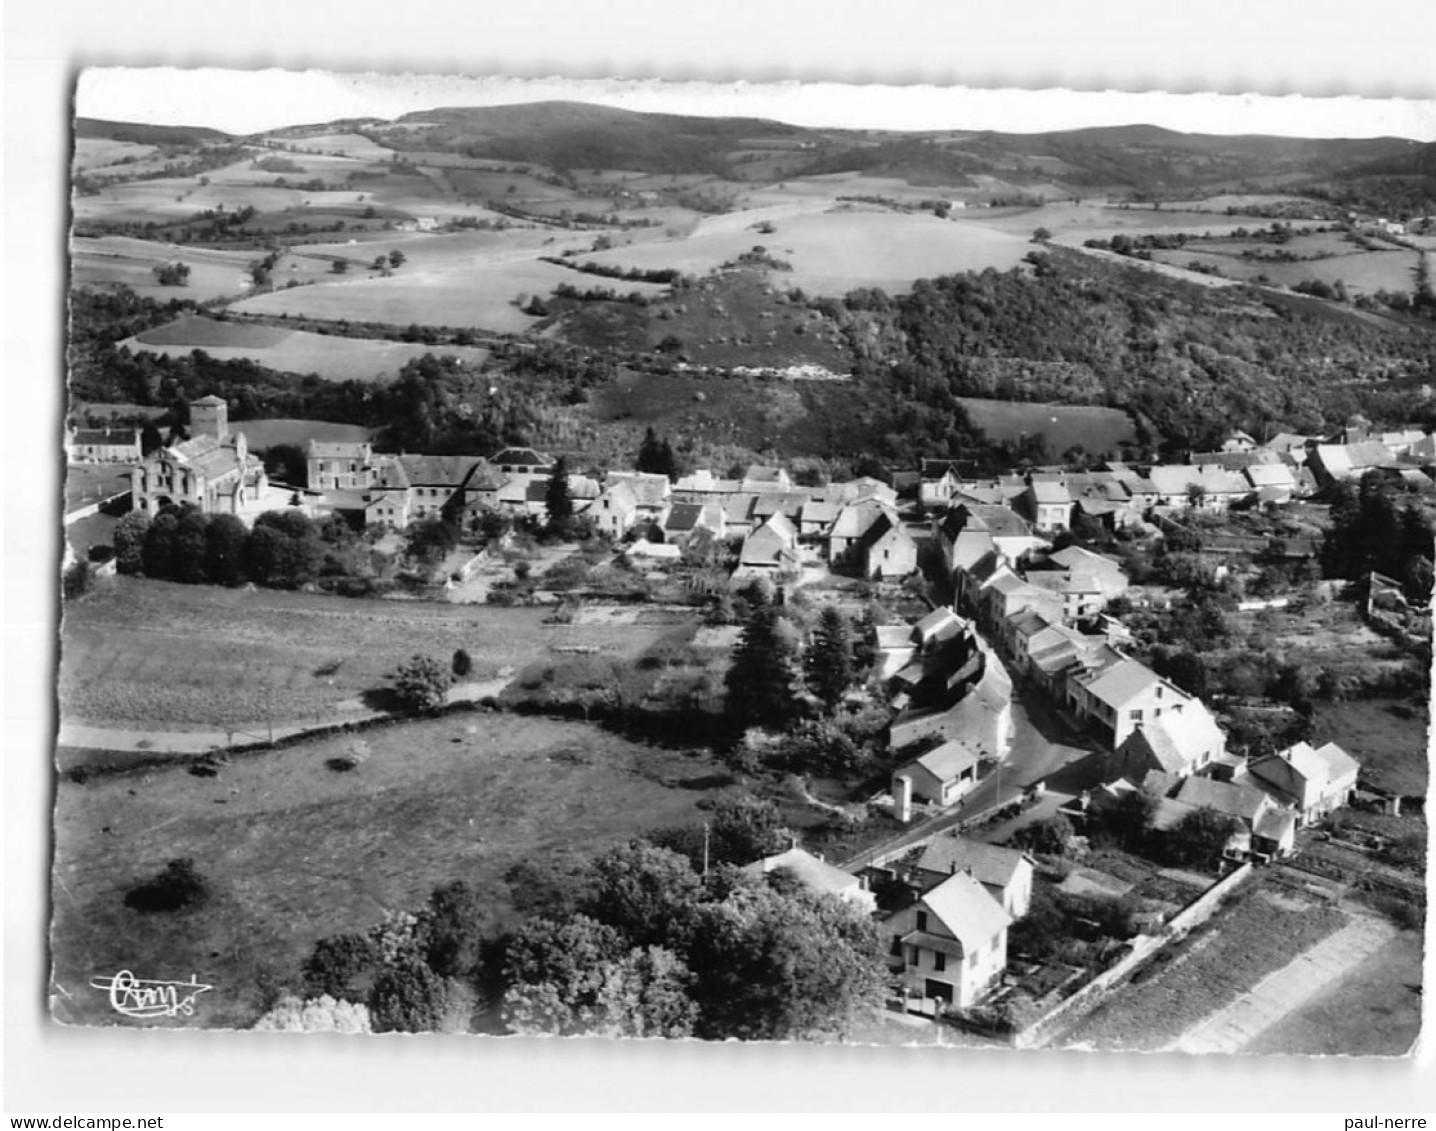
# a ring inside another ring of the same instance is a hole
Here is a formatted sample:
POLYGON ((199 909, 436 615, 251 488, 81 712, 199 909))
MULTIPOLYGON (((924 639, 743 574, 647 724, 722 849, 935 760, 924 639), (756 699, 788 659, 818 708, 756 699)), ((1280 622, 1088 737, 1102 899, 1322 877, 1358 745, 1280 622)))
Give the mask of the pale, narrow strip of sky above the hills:
POLYGON ((75 111, 82 118, 256 133, 337 118, 392 119, 435 106, 544 99, 597 102, 633 111, 770 118, 793 125, 850 129, 995 129, 1027 133, 1140 122, 1198 133, 1436 141, 1436 99, 821 82, 508 79, 218 67, 88 69, 79 78, 75 111))

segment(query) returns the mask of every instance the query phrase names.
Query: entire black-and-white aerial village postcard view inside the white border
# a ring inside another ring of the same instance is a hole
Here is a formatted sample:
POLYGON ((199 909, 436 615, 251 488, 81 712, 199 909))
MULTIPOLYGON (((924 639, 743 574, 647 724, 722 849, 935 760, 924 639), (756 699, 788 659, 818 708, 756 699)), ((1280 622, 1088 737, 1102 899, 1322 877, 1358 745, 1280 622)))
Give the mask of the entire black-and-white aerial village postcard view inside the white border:
POLYGON ((1436 100, 312 62, 53 108, 42 1025, 1414 1066, 1436 100))

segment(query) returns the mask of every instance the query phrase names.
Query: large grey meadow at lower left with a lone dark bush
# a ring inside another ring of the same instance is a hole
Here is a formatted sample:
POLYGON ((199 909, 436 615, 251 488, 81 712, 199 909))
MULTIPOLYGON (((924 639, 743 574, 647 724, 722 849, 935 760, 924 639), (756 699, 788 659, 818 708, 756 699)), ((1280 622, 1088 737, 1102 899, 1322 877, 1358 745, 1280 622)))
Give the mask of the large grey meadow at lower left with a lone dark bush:
MULTIPOLYGON (((451 610, 447 610, 451 611, 451 610)), ((632 633, 632 629, 628 629, 632 633)), ((125 1023, 90 977, 213 985, 182 1026, 247 1026, 267 990, 296 985, 313 943, 359 931, 465 880, 510 914, 503 876, 587 857, 646 830, 698 822, 724 776, 704 754, 596 726, 485 712, 362 735, 366 759, 327 766, 353 736, 236 758, 217 778, 181 768, 57 787, 52 946, 56 1016, 125 1023), (125 893, 177 857, 208 906, 141 914, 125 893)))

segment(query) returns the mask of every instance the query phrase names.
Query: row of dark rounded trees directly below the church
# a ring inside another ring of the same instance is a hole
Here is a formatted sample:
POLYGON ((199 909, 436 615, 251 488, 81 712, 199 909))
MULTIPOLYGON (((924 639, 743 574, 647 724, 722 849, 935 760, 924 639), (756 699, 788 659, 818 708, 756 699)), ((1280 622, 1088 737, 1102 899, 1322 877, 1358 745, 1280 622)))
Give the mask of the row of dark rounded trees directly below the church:
POLYGON ((314 522, 300 511, 267 511, 247 530, 233 514, 165 507, 131 511, 115 525, 121 573, 187 584, 299 588, 372 573, 370 550, 342 518, 314 522))

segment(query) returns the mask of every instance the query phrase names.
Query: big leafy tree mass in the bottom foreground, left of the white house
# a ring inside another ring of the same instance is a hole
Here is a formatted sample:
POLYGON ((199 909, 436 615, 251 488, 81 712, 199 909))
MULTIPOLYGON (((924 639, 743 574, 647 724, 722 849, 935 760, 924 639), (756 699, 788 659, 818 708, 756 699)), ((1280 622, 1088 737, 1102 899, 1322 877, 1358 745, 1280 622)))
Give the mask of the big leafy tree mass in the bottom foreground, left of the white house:
POLYGON ((455 883, 414 914, 320 940, 303 996, 362 1003, 378 1032, 497 1015, 517 1033, 714 1041, 841 1035, 880 999, 872 921, 788 873, 701 876, 635 841, 536 890, 541 878, 511 874, 516 901, 541 913, 510 933, 455 883))

